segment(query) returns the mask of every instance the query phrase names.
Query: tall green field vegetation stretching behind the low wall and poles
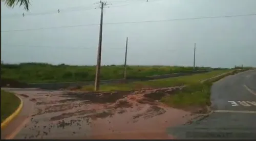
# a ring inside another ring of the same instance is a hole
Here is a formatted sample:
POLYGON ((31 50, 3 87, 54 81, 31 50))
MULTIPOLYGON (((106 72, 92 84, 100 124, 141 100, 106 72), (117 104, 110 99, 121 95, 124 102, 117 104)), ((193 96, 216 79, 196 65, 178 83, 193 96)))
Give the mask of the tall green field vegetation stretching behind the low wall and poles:
MULTIPOLYGON (((209 69, 197 67, 200 69, 209 69)), ((145 76, 188 72, 193 67, 179 66, 128 66, 127 78, 143 78, 145 76)), ((123 66, 102 66, 101 79, 123 78, 123 66)), ((51 65, 44 63, 1 64, 2 78, 11 78, 22 82, 71 82, 91 81, 95 78, 95 66, 51 65)))

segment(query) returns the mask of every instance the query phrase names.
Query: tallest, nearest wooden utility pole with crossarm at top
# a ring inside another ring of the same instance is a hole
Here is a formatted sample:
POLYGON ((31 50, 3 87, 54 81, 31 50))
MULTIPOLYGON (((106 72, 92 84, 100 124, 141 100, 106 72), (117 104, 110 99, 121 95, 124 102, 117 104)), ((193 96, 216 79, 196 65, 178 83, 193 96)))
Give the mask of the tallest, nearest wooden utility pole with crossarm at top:
POLYGON ((98 45, 98 53, 97 53, 97 65, 96 65, 96 74, 95 74, 95 83, 94 83, 94 91, 99 90, 99 82, 100 82, 100 65, 101 65, 101 44, 102 44, 102 22, 103 22, 103 8, 106 5, 105 2, 100 1, 100 26, 99 26, 99 45, 98 45))

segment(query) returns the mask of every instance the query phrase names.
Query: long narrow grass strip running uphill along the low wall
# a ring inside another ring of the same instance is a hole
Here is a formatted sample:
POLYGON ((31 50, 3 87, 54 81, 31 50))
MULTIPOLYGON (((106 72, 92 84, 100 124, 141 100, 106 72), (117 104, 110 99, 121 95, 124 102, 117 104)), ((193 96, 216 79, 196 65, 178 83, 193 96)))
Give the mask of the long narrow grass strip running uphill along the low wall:
MULTIPOLYGON (((150 81, 136 81, 131 83, 121 83, 121 84, 102 84, 100 85, 100 91, 130 91, 141 88, 162 88, 162 87, 172 87, 172 86, 182 86, 188 84, 199 83, 201 80, 205 80, 222 73, 231 71, 227 70, 217 70, 207 73, 194 74, 189 76, 180 76, 174 78, 157 79, 150 81)), ((84 86, 81 90, 93 91, 94 86, 84 86)))

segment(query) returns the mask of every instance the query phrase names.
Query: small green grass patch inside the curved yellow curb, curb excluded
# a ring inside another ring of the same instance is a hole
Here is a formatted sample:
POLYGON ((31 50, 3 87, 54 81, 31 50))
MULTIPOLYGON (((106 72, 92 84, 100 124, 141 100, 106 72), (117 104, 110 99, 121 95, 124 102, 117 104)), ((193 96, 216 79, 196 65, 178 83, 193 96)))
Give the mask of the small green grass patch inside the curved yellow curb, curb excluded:
POLYGON ((13 93, 1 90, 1 123, 19 106, 20 99, 13 93))

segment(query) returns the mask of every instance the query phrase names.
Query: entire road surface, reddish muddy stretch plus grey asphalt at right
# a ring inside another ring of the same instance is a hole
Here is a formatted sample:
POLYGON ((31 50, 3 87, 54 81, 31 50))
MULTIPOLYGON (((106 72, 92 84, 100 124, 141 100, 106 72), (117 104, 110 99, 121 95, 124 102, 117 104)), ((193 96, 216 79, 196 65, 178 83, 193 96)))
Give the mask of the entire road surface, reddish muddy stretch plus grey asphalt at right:
POLYGON ((197 115, 156 101, 179 87, 106 93, 9 88, 23 99, 24 108, 1 138, 256 138, 255 81, 253 70, 216 82, 214 112, 192 123, 188 121, 197 115))

